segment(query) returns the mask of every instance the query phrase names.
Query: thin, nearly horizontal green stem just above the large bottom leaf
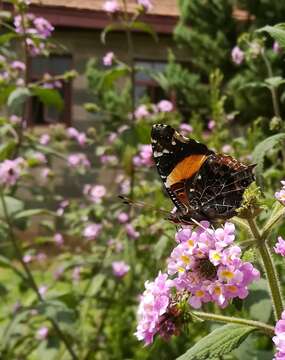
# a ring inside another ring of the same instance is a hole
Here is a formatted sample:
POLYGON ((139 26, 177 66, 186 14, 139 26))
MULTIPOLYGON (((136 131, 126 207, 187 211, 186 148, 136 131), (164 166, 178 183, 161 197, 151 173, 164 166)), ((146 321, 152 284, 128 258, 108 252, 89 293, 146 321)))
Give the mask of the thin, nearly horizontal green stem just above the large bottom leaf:
POLYGON ((226 324, 240 324, 240 325, 245 325, 245 326, 252 326, 252 327, 255 327, 258 330, 262 331, 266 335, 269 335, 270 337, 274 334, 273 326, 267 325, 260 321, 236 318, 236 317, 232 317, 232 316, 216 315, 216 314, 212 314, 212 313, 205 313, 202 311, 192 311, 191 313, 203 320, 221 322, 221 323, 226 323, 226 324))

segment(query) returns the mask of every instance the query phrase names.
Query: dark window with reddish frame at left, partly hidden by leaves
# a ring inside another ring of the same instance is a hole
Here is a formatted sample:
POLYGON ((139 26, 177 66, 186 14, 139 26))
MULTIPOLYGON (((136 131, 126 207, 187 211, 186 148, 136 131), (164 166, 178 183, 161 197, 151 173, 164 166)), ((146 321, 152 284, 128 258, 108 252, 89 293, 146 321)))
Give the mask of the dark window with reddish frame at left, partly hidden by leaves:
MULTIPOLYGON (((41 80, 44 74, 62 75, 71 68, 72 57, 70 55, 31 58, 29 59, 29 81, 41 80)), ((58 111, 54 107, 47 107, 37 96, 33 96, 28 103, 27 118, 29 125, 71 124, 72 84, 70 81, 61 81, 61 86, 57 90, 64 102, 63 110, 58 111)))

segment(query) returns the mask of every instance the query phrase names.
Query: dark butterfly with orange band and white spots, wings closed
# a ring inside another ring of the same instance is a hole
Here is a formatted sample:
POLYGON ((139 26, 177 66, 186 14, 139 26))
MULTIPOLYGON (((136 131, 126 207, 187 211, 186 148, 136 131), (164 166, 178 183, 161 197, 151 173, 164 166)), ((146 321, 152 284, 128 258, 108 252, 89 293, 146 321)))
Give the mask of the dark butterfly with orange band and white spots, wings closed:
POLYGON ((245 189, 254 181, 255 165, 216 154, 169 125, 153 125, 151 144, 158 173, 176 207, 170 221, 216 222, 236 215, 245 189))

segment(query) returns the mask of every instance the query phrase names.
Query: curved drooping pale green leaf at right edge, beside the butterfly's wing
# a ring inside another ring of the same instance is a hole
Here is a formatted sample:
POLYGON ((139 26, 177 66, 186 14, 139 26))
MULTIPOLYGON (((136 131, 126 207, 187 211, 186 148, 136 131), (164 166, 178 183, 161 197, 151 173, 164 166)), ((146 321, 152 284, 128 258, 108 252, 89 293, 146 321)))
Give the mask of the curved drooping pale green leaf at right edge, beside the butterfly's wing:
POLYGON ((280 144, 285 140, 285 133, 272 135, 269 138, 259 143, 253 153, 253 162, 257 164, 255 168, 256 182, 259 186, 262 185, 263 172, 264 172, 264 158, 274 146, 280 144))

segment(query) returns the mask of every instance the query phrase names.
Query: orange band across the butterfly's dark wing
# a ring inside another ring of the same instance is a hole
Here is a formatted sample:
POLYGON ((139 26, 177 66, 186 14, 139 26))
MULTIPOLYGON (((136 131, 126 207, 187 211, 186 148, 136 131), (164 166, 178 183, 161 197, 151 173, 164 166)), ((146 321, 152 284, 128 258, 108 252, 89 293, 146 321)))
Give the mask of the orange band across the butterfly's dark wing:
POLYGON ((180 161, 168 175, 166 186, 170 187, 181 180, 191 178, 200 169, 206 159, 206 155, 190 155, 180 161))

